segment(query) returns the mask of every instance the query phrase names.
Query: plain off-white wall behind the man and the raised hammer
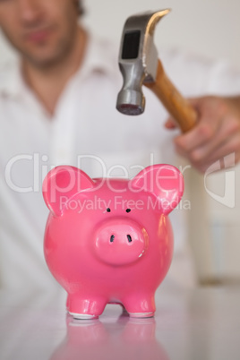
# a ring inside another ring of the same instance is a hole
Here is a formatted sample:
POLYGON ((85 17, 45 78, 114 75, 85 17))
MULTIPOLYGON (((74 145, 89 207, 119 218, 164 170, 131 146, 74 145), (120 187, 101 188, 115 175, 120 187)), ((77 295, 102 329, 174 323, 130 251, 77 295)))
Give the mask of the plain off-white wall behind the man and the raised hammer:
MULTIPOLYGON (((83 0, 85 22, 99 35, 120 41, 125 19, 133 13, 171 8, 159 23, 156 42, 213 58, 226 58, 240 68, 239 0, 83 0)), ((0 61, 8 48, 0 38, 0 61)))

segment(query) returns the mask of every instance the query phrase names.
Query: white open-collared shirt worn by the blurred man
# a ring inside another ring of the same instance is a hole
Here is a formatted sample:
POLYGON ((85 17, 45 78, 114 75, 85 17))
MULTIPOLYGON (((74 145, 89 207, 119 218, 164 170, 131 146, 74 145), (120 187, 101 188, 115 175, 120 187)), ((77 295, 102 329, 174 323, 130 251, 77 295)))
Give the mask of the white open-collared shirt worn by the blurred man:
MULTIPOLYGON (((160 58, 186 97, 240 93, 240 74, 227 64, 176 50, 164 50, 160 58)), ((0 72, 2 287, 57 287, 43 256, 48 210, 41 184, 51 167, 68 164, 93 177, 133 177, 151 163, 184 165, 171 141, 178 131, 164 129, 167 112, 159 100, 144 89, 144 114, 124 116, 116 111, 121 85, 116 49, 92 38, 81 69, 65 87, 52 118, 22 80, 19 61, 0 72)), ((175 210, 172 219, 176 253, 181 253, 186 249, 184 211, 175 210)))

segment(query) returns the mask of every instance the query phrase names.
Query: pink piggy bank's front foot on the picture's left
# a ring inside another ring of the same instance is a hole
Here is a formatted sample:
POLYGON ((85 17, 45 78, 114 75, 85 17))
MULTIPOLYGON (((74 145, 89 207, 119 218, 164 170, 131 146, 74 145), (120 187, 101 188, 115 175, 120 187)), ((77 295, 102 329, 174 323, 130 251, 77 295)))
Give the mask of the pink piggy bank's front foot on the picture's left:
POLYGON ((82 297, 79 294, 71 294, 67 297, 67 311, 75 319, 96 319, 103 313, 107 299, 99 296, 82 297))

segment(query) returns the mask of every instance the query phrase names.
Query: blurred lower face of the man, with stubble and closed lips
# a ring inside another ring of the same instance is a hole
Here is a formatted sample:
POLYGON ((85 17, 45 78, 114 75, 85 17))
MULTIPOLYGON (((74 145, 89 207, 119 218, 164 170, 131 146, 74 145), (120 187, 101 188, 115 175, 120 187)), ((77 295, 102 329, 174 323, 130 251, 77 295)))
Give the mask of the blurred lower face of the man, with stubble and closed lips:
POLYGON ((35 66, 61 59, 77 33, 77 0, 0 0, 0 27, 35 66))

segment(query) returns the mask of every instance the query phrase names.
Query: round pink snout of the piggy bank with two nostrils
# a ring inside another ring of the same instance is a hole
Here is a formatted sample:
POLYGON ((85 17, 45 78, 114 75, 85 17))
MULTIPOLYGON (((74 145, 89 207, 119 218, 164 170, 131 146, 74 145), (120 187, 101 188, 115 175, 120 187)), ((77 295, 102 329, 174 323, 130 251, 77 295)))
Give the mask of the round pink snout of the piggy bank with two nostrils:
POLYGON ((125 265, 139 260, 148 244, 145 228, 131 219, 106 220, 96 229, 95 253, 100 261, 110 265, 125 265))

